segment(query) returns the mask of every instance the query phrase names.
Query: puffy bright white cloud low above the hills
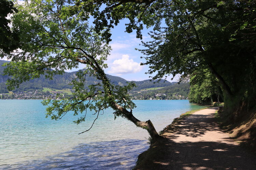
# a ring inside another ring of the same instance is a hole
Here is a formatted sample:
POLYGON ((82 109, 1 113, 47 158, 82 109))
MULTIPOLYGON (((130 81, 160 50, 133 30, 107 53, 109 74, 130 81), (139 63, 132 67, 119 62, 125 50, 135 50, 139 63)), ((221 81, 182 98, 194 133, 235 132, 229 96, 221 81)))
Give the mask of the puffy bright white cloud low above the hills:
POLYGON ((115 60, 111 66, 109 73, 117 75, 137 73, 142 70, 140 63, 134 62, 129 59, 129 55, 122 55, 122 59, 115 60))

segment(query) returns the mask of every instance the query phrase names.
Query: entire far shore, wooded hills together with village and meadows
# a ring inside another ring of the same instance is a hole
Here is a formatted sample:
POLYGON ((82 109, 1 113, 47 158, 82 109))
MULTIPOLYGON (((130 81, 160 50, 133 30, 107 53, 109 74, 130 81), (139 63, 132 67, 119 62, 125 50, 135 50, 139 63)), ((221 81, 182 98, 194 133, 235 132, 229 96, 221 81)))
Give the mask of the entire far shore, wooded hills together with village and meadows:
MULTIPOLYGON (((62 99, 72 98, 73 85, 71 81, 75 78, 74 72, 65 72, 62 75, 55 75, 52 80, 40 77, 23 82, 18 88, 8 91, 5 84, 10 77, 3 75, 2 67, 9 61, 0 60, 0 99, 62 99)), ((131 81, 107 74, 113 85, 124 86, 131 81)), ((189 83, 168 82, 165 80, 143 80, 132 81, 136 87, 129 92, 133 100, 171 100, 187 99, 189 83)), ((95 77, 87 77, 84 82, 85 89, 89 85, 100 83, 95 77)))

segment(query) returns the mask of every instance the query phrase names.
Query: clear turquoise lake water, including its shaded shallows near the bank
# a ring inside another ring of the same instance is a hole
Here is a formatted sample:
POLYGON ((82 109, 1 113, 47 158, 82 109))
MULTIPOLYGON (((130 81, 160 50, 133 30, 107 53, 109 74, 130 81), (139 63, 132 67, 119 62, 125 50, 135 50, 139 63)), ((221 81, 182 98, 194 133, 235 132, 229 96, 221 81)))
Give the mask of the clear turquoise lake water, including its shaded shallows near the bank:
MULTIPOLYGON (((136 100, 133 115, 150 119, 159 132, 182 113, 203 106, 188 100, 136 100)), ((117 118, 112 109, 87 112, 79 125, 71 114, 55 121, 45 118, 41 100, 0 100, 0 169, 131 169, 149 147, 146 130, 117 118)))

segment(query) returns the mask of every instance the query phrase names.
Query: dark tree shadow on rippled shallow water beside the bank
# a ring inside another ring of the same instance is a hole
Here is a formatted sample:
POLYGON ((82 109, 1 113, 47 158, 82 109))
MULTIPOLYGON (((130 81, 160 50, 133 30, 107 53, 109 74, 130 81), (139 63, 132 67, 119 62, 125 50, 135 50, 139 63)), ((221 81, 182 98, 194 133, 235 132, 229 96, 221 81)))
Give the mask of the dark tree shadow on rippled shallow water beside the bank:
POLYGON ((0 165, 0 169, 132 169, 137 156, 147 148, 145 140, 136 139, 81 143, 67 152, 0 165))

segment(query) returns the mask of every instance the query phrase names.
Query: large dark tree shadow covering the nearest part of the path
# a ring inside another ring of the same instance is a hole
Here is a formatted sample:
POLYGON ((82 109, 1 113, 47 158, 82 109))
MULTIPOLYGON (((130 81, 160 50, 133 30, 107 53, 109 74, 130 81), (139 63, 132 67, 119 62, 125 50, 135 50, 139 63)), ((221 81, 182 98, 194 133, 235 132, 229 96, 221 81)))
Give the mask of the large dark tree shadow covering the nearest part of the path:
MULTIPOLYGON (((155 157, 154 169, 173 170, 255 170, 255 155, 244 152, 237 145, 218 142, 170 141, 162 152, 168 153, 165 161, 155 157)), ((151 169, 148 167, 148 169, 151 169)))

